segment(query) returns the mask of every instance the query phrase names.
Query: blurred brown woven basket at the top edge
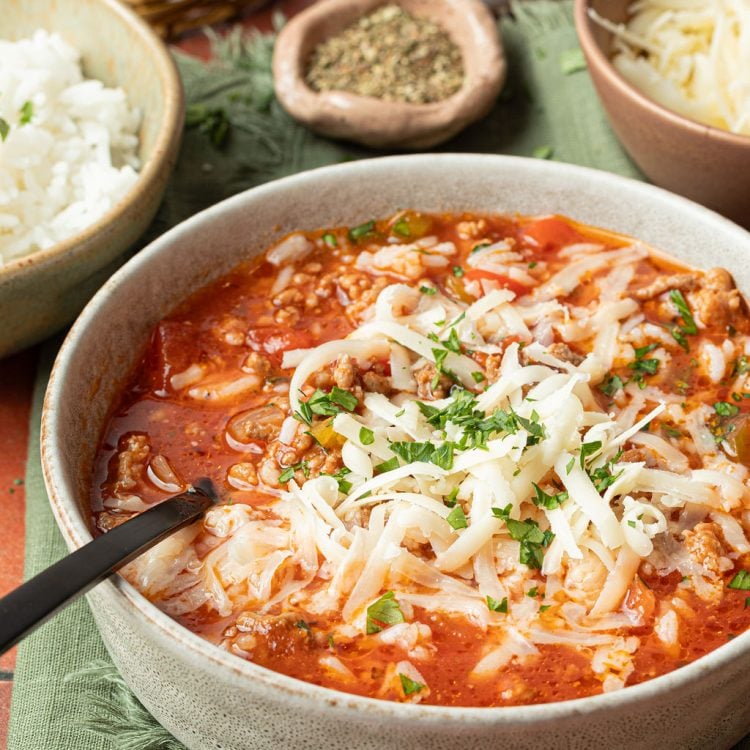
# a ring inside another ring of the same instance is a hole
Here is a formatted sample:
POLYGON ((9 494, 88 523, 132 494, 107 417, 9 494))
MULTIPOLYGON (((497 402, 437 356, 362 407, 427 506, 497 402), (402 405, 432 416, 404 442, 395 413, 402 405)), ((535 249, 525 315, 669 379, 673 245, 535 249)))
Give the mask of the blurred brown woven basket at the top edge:
POLYGON ((268 0, 122 0, 165 39, 186 31, 231 21, 246 10, 256 10, 268 0))

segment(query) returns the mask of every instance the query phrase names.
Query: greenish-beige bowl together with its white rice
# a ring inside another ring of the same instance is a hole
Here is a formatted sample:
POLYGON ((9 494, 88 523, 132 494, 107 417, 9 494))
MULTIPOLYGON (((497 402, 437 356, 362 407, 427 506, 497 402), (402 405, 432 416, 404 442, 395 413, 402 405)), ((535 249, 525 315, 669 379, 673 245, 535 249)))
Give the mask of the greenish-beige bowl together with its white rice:
POLYGON ((143 234, 183 122, 179 75, 116 0, 0 15, 0 356, 70 322, 143 234))

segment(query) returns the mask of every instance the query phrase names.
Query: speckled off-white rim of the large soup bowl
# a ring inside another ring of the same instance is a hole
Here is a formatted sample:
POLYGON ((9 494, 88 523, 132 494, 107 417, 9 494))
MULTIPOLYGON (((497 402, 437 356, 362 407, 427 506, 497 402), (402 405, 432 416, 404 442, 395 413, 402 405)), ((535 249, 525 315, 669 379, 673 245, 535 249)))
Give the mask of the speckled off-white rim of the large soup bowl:
MULTIPOLYGON (((480 167, 487 160, 492 160, 498 169, 513 171, 515 168, 520 168, 527 173, 531 172, 540 177, 554 176, 556 179, 559 179, 561 184, 566 184, 566 178, 575 176, 582 180, 585 179, 590 183, 599 184, 602 186, 602 189, 614 192, 619 190, 627 194, 629 191, 635 189, 653 197, 654 203, 659 205, 660 210, 666 209, 674 212, 674 214, 679 214, 686 221, 692 221, 694 218, 697 218, 699 222, 712 223, 717 228, 721 228, 726 234, 730 236, 735 235, 738 246, 750 248, 750 234, 739 226, 703 206, 661 188, 587 167, 516 156, 424 154, 417 156, 382 157, 379 159, 320 167, 308 172, 275 180, 228 198, 211 208, 201 211, 161 235, 147 248, 128 261, 89 302, 73 325, 60 349, 45 394, 41 425, 41 451, 42 469, 50 505, 57 524, 69 546, 78 548, 89 542, 92 539, 92 535, 88 524, 78 508, 76 499, 59 491, 59 488, 66 487, 68 477, 66 477, 67 472, 65 467, 57 459, 57 455, 60 455, 58 440, 61 439, 61 431, 58 429, 56 422, 60 410, 55 408, 55 402, 59 401, 64 392, 67 370, 74 367, 79 339, 84 339, 89 333, 89 327, 96 323, 100 315, 99 308, 102 306, 106 308, 110 293, 120 284, 127 282, 131 274, 142 271, 144 267, 148 267, 152 257, 157 254, 168 253, 170 248, 179 243, 182 236, 189 235, 194 227, 220 223, 223 213, 228 209, 244 205, 245 210, 247 210, 247 203, 250 200, 250 196, 273 197, 275 194, 283 194, 285 189, 291 186, 307 186, 313 189, 319 177, 328 176, 334 172, 339 175, 347 172, 356 172, 362 177, 362 173, 366 173, 368 163, 377 162, 382 164, 390 162, 394 169, 405 170, 409 168, 418 169, 420 163, 425 161, 429 161, 434 165, 435 159, 443 159, 446 167, 455 165, 456 160, 460 160, 462 165, 466 167, 471 166, 472 162, 475 162, 477 167, 480 167)), ((224 652, 208 641, 203 640, 159 610, 119 576, 104 581, 100 586, 107 587, 109 589, 108 594, 123 597, 125 600, 123 603, 134 614, 142 618, 144 622, 147 622, 149 627, 158 631, 159 636, 165 639, 168 638, 182 646, 184 648, 185 662, 198 659, 200 663, 213 664, 216 669, 223 671, 224 677, 231 680, 236 686, 241 686, 245 680, 253 680, 256 683, 261 683, 269 690, 277 691, 279 697, 283 697, 292 707, 306 708, 310 711, 318 711, 321 707, 325 707, 326 710, 336 711, 342 720, 356 716, 367 716, 369 719, 376 718, 382 720, 419 720, 427 726, 451 725, 452 727, 456 727, 471 724, 474 726, 489 727, 493 725, 524 726, 542 721, 562 720, 582 714, 595 716, 598 713, 604 713, 613 709, 627 709, 629 706, 648 701, 650 698, 660 696, 665 692, 677 691, 690 683, 700 680, 705 673, 715 672, 738 658, 747 658, 750 654, 750 631, 746 631, 729 643, 720 646, 718 649, 684 667, 612 693, 530 706, 496 708, 424 706, 351 695, 273 672, 270 669, 244 661, 239 657, 224 652)))

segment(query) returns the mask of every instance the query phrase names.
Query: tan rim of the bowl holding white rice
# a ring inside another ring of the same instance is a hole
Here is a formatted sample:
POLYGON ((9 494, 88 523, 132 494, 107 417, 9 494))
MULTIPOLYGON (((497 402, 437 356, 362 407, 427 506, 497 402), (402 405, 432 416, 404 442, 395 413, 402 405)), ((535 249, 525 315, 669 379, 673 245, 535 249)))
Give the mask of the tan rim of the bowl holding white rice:
POLYGON ((177 65, 164 42, 159 39, 145 21, 118 0, 97 0, 97 2, 106 6, 109 12, 117 17, 123 25, 129 26, 143 39, 151 59, 155 63, 163 90, 166 92, 164 113, 151 154, 141 165, 135 184, 98 221, 68 237, 68 239, 52 245, 52 247, 45 250, 36 250, 0 265, 0 283, 11 277, 34 273, 38 268, 51 265, 61 260, 65 255, 73 257, 77 254, 76 250, 84 249, 96 235, 106 232, 109 225, 116 221, 130 205, 135 203, 141 193, 158 182, 159 174, 165 167, 169 144, 175 137, 178 137, 175 134, 179 133, 182 128, 184 108, 182 81, 177 71, 177 65))

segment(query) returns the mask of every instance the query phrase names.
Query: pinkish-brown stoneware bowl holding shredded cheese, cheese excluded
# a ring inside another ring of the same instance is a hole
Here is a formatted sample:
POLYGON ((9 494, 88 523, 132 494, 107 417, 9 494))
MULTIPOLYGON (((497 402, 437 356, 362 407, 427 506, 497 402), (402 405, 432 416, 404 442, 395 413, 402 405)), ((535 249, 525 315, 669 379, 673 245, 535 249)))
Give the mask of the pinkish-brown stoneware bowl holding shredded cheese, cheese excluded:
POLYGON ((575 0, 578 39, 623 146, 655 182, 750 227, 750 137, 688 120, 641 93, 610 62, 612 34, 588 15, 627 19, 630 0, 575 0))

